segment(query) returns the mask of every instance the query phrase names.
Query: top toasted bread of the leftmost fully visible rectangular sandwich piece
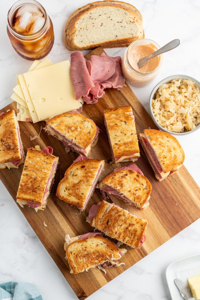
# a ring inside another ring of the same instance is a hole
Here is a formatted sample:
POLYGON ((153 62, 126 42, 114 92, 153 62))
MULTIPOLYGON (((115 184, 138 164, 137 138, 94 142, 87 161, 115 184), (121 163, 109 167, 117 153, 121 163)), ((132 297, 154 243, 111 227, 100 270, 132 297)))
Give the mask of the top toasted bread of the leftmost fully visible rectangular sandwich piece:
POLYGON ((53 155, 28 149, 16 199, 42 203, 55 158, 58 159, 53 155))

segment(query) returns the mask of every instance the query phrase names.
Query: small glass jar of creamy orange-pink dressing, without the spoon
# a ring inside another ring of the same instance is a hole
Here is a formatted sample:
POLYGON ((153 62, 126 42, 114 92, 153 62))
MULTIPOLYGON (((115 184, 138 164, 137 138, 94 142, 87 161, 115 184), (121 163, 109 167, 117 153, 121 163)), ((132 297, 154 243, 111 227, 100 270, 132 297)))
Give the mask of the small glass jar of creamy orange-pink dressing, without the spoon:
POLYGON ((122 73, 125 80, 133 86, 147 85, 160 71, 163 54, 151 58, 148 63, 139 69, 137 63, 140 58, 150 55, 160 49, 160 46, 152 40, 140 39, 131 43, 122 60, 122 73))

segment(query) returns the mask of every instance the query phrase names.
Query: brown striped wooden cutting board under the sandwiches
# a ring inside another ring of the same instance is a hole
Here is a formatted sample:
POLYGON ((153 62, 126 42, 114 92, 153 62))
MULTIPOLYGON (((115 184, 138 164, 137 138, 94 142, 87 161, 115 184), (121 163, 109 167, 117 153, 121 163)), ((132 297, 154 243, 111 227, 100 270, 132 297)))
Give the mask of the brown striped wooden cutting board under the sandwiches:
MULTIPOLYGON (((102 48, 96 48, 86 55, 86 58, 89 58, 91 54, 98 55, 102 52, 102 48)), ((97 104, 84 104, 83 106, 82 113, 93 119, 100 128, 98 143, 92 149, 90 155, 92 158, 105 159, 106 161, 105 169, 100 179, 111 173, 116 167, 129 164, 121 163, 117 164, 117 166, 109 164, 108 161, 111 160, 112 157, 103 122, 103 111, 105 109, 125 105, 131 105, 133 108, 136 131, 138 134, 145 128, 150 127, 156 129, 151 117, 128 85, 121 90, 106 89, 104 98, 99 99, 97 104)), ((1 112, 5 112, 8 109, 15 109, 16 111, 15 102, 4 107, 1 112)), ((27 148, 35 145, 40 145, 41 148, 52 146, 53 154, 59 156, 59 165, 55 176, 55 183, 52 187, 45 211, 38 211, 36 213, 33 208, 27 206, 21 208, 18 204, 16 205, 25 215, 27 221, 30 223, 79 299, 87 298, 97 289, 124 272, 127 268, 134 265, 140 259, 151 253, 151 251, 155 250, 200 217, 200 188, 187 169, 182 166, 181 169, 169 179, 158 182, 145 158, 142 148, 140 147, 141 157, 136 164, 152 184, 149 207, 145 211, 142 211, 133 206, 129 206, 116 198, 112 198, 112 200, 131 213, 137 214, 148 220, 148 227, 145 232, 145 243, 140 249, 133 249, 123 245, 123 247, 126 247, 128 250, 121 258, 121 262, 125 262, 125 265, 121 265, 118 268, 109 268, 106 274, 98 268, 90 269, 88 272, 76 275, 70 274, 68 263, 64 258, 65 234, 68 233, 73 237, 94 231, 94 228, 91 227, 85 219, 88 216, 89 208, 102 199, 100 192, 98 189, 95 190, 88 207, 85 212, 82 212, 81 214, 79 214, 77 208, 70 207, 59 200, 55 196, 57 184, 59 180, 63 178, 66 169, 73 163, 73 160, 78 154, 71 151, 66 153, 63 144, 54 137, 48 136, 43 130, 41 131, 39 138, 31 141, 30 137, 38 135, 40 126, 44 127, 45 122, 35 124, 31 122, 19 123, 25 154, 27 148), (43 226, 44 221, 47 227, 43 226)), ((23 165, 19 166, 19 169, 0 170, 0 179, 15 202, 22 169, 23 165)))

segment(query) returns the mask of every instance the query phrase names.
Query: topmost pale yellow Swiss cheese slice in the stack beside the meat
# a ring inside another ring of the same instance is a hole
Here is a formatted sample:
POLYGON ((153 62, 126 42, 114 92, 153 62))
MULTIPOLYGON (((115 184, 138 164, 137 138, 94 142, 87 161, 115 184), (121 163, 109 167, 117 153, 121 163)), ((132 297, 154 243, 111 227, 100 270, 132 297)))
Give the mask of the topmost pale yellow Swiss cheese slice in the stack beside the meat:
POLYGON ((34 123, 82 107, 82 99, 75 99, 70 68, 66 60, 18 76, 34 123))

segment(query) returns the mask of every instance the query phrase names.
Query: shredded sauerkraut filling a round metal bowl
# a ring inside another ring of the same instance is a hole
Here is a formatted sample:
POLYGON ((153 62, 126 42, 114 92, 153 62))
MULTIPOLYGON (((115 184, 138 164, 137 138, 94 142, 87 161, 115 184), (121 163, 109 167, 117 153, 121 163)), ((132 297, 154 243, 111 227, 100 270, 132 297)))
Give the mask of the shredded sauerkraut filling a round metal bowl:
POLYGON ((150 95, 154 123, 163 131, 187 134, 200 128, 200 82, 185 75, 160 81, 150 95))

